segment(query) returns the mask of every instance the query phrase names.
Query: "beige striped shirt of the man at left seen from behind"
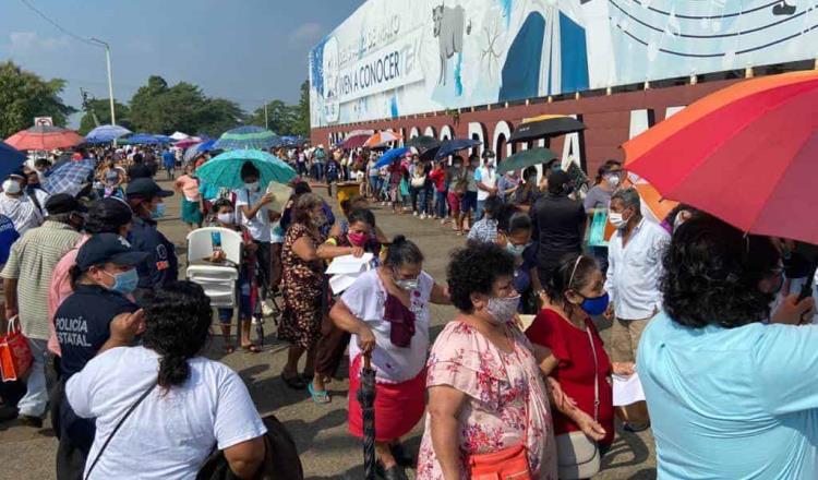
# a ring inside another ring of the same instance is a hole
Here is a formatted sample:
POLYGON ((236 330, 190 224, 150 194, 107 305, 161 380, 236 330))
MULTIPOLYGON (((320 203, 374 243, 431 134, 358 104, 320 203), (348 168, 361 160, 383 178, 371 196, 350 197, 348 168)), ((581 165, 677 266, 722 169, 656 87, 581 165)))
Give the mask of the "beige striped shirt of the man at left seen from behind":
POLYGON ((17 310, 23 335, 47 340, 48 289, 53 268, 82 235, 65 224, 46 220, 12 247, 0 276, 17 280, 17 310))

